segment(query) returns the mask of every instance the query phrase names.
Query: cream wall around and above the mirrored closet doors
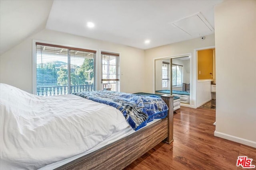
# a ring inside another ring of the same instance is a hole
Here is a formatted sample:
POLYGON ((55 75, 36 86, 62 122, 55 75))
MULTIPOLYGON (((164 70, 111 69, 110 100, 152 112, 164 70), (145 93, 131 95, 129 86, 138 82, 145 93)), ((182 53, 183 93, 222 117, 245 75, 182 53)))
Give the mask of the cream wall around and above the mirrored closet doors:
MULTIPOLYGON (((167 57, 172 57, 174 55, 182 55, 187 53, 193 54, 193 51, 196 48, 210 47, 214 45, 215 45, 214 34, 212 34, 212 35, 206 35, 204 40, 198 37, 198 38, 190 39, 187 41, 172 43, 169 45, 164 45, 164 46, 145 50, 145 59, 146 59, 145 68, 147 70, 144 76, 144 78, 146 79, 144 92, 154 93, 154 83, 155 83, 154 82, 154 59, 167 58, 167 57)), ((193 73, 190 73, 190 74, 193 74, 193 73)))

